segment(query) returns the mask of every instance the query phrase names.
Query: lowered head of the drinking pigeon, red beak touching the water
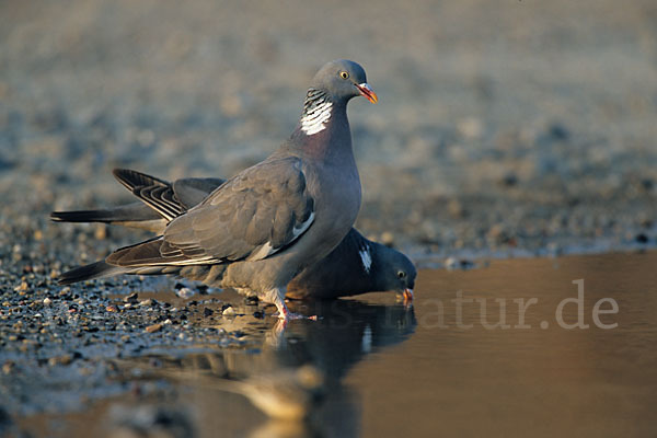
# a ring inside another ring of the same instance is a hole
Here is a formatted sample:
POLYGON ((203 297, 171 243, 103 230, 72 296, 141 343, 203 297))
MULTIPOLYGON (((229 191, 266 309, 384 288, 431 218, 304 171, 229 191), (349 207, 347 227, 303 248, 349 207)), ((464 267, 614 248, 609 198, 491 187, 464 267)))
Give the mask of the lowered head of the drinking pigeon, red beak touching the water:
POLYGON ((401 252, 381 245, 377 254, 381 289, 391 290, 403 295, 404 302, 413 300, 413 288, 417 270, 413 262, 401 252))

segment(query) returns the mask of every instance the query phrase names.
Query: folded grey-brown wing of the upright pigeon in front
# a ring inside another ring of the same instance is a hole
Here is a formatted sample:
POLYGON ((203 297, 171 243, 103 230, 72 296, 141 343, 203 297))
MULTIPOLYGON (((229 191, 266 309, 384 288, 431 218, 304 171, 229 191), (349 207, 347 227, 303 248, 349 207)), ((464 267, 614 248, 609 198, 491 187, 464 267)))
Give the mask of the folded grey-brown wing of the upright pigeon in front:
POLYGON ((174 219, 161 239, 119 250, 107 262, 137 266, 262 260, 293 243, 313 220, 314 200, 300 161, 265 161, 174 219))

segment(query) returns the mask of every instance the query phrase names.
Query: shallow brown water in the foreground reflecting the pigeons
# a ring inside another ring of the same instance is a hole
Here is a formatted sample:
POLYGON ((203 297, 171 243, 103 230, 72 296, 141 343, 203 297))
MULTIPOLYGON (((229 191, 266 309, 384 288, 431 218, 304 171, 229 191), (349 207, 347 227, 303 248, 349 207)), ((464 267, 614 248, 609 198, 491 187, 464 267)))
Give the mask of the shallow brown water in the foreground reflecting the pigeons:
POLYGON ((657 341, 655 263, 657 253, 648 252, 423 270, 412 308, 391 295, 372 293, 299 308, 324 318, 293 321, 279 335, 273 325, 261 325, 246 348, 161 346, 114 361, 120 370, 116 379, 129 382, 123 395, 96 400, 82 413, 26 417, 19 425, 35 436, 78 437, 89 430, 113 436, 118 425, 135 424, 139 410, 150 408, 164 417, 180 414, 171 423, 191 427, 198 437, 218 431, 650 436, 657 426, 652 415, 657 384, 652 348, 657 341), (579 279, 587 328, 572 326, 578 322, 576 302, 563 306, 561 323, 556 316, 561 302, 578 298, 573 281, 579 279), (462 302, 460 320, 459 293, 463 300, 479 300, 462 302), (514 301, 520 299, 537 300, 523 320, 514 301), (596 321, 592 311, 601 299, 608 299, 600 309, 609 313, 596 321), (499 300, 505 300, 503 322, 510 327, 486 327, 499 322, 499 300), (618 312, 611 313, 609 300, 618 303, 618 312), (613 324, 618 326, 611 328, 613 324), (330 383, 306 422, 268 419, 246 397, 220 387, 309 364, 330 383))

